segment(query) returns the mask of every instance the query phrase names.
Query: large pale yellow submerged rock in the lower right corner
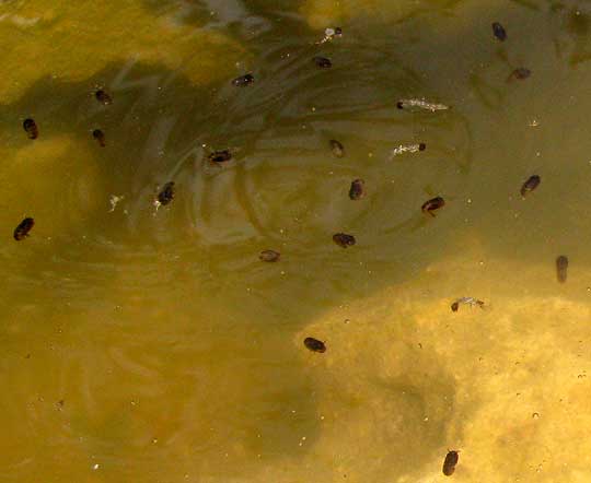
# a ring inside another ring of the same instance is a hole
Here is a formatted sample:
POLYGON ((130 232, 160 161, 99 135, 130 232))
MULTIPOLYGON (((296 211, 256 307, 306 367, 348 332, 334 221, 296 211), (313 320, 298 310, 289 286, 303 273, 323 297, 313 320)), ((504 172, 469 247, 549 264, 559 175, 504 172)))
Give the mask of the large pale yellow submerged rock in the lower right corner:
MULTIPOLYGON (((532 292, 552 274, 552 263, 496 267, 507 281, 511 272, 530 280, 532 292)), ((444 273, 463 278, 465 269, 463 258, 438 262, 297 334, 325 416, 304 459, 332 461, 322 481, 447 481, 448 449, 461 451, 460 482, 591 478, 589 305, 564 295, 511 296, 509 282, 491 290, 480 278, 471 294, 485 293, 488 307, 452 313, 452 297, 434 294, 448 288, 444 273), (327 351, 306 351, 305 337, 325 341, 327 351)))

